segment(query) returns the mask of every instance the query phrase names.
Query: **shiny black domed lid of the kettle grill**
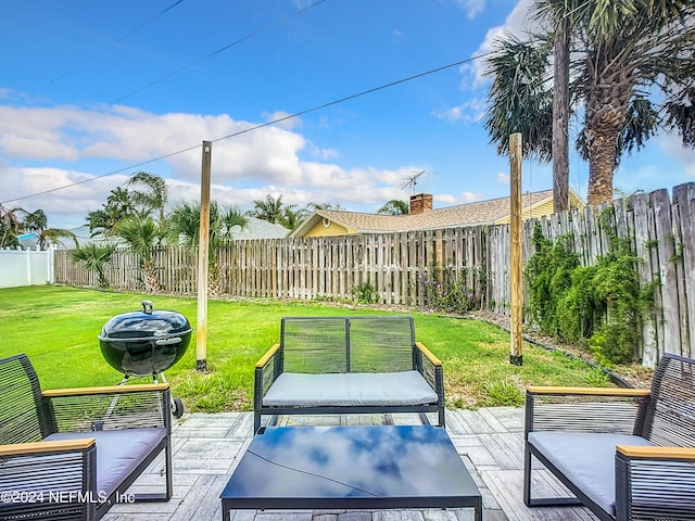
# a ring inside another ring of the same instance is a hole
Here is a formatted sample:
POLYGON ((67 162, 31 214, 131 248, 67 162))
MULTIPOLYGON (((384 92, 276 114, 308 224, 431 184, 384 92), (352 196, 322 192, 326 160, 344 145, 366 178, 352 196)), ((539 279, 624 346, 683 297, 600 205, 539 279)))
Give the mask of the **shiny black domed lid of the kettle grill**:
POLYGON ((180 313, 154 310, 152 301, 142 301, 141 312, 116 315, 104 323, 99 340, 164 340, 178 338, 191 331, 188 318, 180 313))

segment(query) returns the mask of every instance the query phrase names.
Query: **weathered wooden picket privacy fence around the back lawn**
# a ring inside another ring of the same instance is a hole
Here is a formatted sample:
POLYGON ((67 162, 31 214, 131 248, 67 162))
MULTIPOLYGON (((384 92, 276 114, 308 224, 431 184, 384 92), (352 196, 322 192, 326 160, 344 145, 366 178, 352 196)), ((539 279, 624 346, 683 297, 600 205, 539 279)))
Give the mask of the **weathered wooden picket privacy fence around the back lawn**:
MULTIPOLYGON (((539 223, 551 240, 571 233, 584 265, 607 253, 610 237, 629 237, 636 254, 641 283, 659 281, 656 305, 643 331, 643 361, 654 365, 661 353, 695 356, 695 183, 637 193, 614 201, 607 223, 603 207, 555 214, 523 223, 523 262, 533 253, 539 223), (606 228, 608 227, 608 229, 606 228)), ((195 251, 167 246, 154 252, 162 289, 197 291, 195 251)), ((353 290, 372 290, 374 302, 425 306, 427 284, 435 266, 457 280, 483 309, 509 313, 509 226, 477 226, 402 233, 311 239, 237 241, 216 253, 223 293, 269 298, 353 300, 353 290)), ((111 285, 141 291, 138 259, 117 251, 108 269, 111 285)), ((55 252, 55 281, 97 285, 97 279, 55 252)), ((431 288, 430 288, 431 290, 431 288)))

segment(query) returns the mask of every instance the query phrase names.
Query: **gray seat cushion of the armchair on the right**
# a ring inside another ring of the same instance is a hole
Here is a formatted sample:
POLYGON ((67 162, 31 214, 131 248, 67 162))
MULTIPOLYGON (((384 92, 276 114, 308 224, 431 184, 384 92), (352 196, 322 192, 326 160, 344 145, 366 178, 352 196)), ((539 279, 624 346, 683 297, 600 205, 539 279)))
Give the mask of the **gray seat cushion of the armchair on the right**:
POLYGON ((529 443, 612 516, 616 513, 616 445, 653 445, 629 434, 584 432, 530 432, 529 443))

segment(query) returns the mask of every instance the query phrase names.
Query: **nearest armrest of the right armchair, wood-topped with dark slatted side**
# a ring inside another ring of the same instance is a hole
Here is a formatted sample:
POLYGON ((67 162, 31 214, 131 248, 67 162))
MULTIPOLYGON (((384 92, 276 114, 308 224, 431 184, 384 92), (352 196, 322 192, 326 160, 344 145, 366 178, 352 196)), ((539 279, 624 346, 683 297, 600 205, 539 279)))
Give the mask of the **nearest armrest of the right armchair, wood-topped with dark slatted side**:
POLYGON ((617 519, 695 518, 695 448, 616 447, 617 519))

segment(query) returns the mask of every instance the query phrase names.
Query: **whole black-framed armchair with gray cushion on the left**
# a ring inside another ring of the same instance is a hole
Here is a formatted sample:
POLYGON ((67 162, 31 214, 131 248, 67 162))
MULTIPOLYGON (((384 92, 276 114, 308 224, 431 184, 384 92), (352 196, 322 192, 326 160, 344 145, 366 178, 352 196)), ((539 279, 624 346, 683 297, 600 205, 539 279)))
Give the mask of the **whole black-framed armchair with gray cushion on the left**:
POLYGON ((172 497, 168 384, 41 391, 26 355, 0 360, 0 519, 97 520, 172 497), (163 454, 162 493, 128 493, 163 454))

